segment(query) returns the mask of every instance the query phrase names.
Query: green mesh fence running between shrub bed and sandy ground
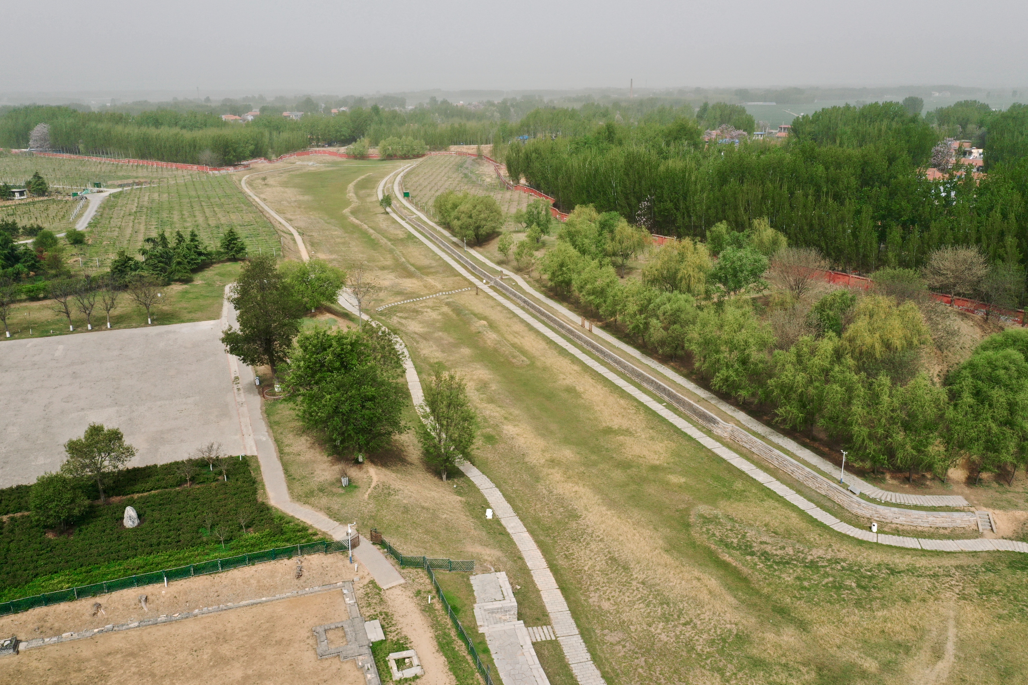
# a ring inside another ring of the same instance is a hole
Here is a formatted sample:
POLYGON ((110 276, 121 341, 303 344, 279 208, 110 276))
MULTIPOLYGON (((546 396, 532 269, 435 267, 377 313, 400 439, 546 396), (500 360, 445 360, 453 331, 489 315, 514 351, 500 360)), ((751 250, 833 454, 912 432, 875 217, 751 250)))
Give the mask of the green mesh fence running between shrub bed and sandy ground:
MULTIPOLYGON (((360 538, 355 537, 354 543, 355 547, 358 546, 358 544, 360 544, 360 538)), ((36 607, 46 607, 51 604, 73 602, 86 597, 115 593, 119 589, 126 589, 128 587, 142 587, 144 585, 153 585, 166 581, 170 582, 172 580, 191 578, 196 575, 220 573, 221 571, 227 571, 242 566, 252 566, 253 564, 261 564, 263 562, 270 562, 277 559, 292 559, 296 556, 320 555, 343 550, 350 550, 347 540, 333 540, 331 542, 319 540, 318 542, 307 542, 306 544, 294 544, 289 547, 276 547, 273 549, 253 551, 248 555, 240 555, 238 557, 229 557, 228 559, 213 559, 207 562, 199 562, 198 564, 190 564, 189 566, 180 566, 174 569, 141 573, 140 575, 128 576, 125 578, 115 578, 114 580, 96 582, 91 585, 79 585, 78 587, 69 587, 67 589, 59 589, 53 593, 45 593, 43 595, 35 595, 33 597, 25 597, 20 600, 3 602, 0 603, 0 616, 6 616, 21 611, 28 611, 29 609, 35 609, 36 607)), ((424 558, 411 557, 409 559, 424 558)), ((453 562, 453 564, 471 564, 472 568, 474 568, 475 565, 474 562, 453 562)))

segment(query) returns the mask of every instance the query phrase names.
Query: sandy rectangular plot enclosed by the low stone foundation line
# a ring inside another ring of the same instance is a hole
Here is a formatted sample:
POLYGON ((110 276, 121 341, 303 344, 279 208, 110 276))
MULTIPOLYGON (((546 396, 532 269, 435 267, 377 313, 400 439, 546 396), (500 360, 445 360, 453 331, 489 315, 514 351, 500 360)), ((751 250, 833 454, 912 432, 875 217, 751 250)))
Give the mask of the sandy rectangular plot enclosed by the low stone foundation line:
POLYGON ((319 659, 311 630, 346 615, 341 591, 101 634, 0 660, 6 683, 342 683, 356 661, 319 659))

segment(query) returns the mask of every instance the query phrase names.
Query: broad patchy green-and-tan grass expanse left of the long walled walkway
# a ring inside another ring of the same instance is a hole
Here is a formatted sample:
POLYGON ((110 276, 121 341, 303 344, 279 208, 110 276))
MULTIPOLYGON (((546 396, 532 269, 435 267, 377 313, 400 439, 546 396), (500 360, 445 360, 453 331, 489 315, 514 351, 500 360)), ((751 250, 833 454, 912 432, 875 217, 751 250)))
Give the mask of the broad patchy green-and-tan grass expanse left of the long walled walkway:
MULTIPOLYGON (((367 261, 383 289, 376 305, 466 284, 372 204, 381 173, 355 186, 353 214, 367 228, 340 219, 339 191, 354 178, 345 174, 290 175, 278 192, 292 198, 287 219, 305 216, 329 259, 367 261)), ((1026 657, 1004 647, 1028 637, 1023 558, 844 537, 489 297, 437 298, 379 318, 419 373, 442 365, 469 381, 482 422, 475 463, 542 548, 608 682, 1025 682, 1026 657)), ((288 409, 270 420, 294 497, 375 521, 406 554, 505 560, 498 570, 516 572, 506 534, 486 534, 480 495, 464 479, 444 486, 411 435, 354 471, 357 490, 342 492, 344 464, 290 426, 288 409)), ((562 663, 559 651, 541 658, 548 673, 562 663)))

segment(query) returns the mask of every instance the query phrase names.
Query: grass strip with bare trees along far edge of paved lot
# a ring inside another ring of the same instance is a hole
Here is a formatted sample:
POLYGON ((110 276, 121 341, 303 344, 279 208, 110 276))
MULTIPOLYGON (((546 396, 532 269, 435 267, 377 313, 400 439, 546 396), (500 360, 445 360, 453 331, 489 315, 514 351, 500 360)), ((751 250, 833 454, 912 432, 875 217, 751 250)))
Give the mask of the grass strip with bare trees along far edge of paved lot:
MULTIPOLYGON (((193 274, 192 282, 168 286, 162 291, 160 304, 152 310, 154 326, 220 318, 225 286, 235 280, 238 271, 237 262, 215 264, 193 274)), ((68 319, 63 313, 53 311, 54 305, 52 300, 23 301, 14 305, 7 320, 11 332, 10 339, 77 335, 86 332, 85 316, 81 312, 72 312, 75 332, 71 333, 68 331, 68 319)), ((106 329, 106 315, 98 304, 93 312, 93 328, 106 329)), ((122 293, 117 308, 111 312, 111 328, 134 329, 140 326, 146 326, 146 310, 122 293)), ((3 338, 0 338, 0 341, 2 340, 3 338)))

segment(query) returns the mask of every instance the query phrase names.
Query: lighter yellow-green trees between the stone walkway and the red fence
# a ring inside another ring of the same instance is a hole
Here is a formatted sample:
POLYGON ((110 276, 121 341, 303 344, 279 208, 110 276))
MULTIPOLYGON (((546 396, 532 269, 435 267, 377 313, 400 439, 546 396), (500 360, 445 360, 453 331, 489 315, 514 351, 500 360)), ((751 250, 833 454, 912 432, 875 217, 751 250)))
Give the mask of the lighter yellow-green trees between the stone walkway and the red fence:
MULTIPOLYGON (((885 269, 871 293, 835 291, 804 305, 805 290, 788 280, 804 249, 787 246, 758 221, 747 231, 719 225, 707 243, 667 243, 640 279, 624 279, 609 254, 592 246, 595 236, 611 233, 603 224, 619 220, 576 208, 540 271, 555 292, 636 344, 686 359, 714 390, 783 426, 820 428, 870 469, 946 478, 967 459, 979 477, 1013 478, 1028 463, 1028 332, 987 339, 938 385, 920 357, 927 346, 948 343, 933 324, 931 307, 940 305, 917 272, 885 269), (720 268, 729 257, 736 266, 720 268), (739 297, 766 288, 769 262, 779 288, 763 301, 739 297)), ((813 262, 808 256, 802 263, 809 283, 813 262)))

